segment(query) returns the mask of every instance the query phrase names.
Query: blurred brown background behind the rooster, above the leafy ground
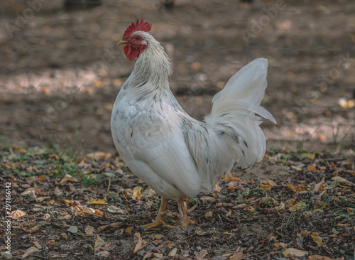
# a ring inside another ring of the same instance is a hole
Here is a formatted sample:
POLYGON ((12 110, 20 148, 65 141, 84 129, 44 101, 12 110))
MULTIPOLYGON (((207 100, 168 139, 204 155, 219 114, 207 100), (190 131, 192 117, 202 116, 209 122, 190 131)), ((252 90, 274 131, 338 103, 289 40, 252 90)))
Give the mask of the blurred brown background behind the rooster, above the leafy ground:
POLYGON ((269 148, 355 147, 351 0, 1 1, 0 141, 114 153, 111 109, 134 66, 116 43, 137 18, 153 23, 192 117, 264 57, 269 148))

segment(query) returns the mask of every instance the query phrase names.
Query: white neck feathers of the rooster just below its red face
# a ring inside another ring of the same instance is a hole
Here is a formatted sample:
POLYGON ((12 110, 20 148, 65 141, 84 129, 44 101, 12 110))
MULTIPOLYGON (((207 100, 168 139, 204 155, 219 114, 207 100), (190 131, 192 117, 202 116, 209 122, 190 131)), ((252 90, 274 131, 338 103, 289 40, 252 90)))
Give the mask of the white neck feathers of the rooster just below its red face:
POLYGON ((148 47, 139 55, 132 75, 132 87, 147 90, 165 90, 169 88, 168 77, 172 71, 168 55, 160 43, 149 33, 138 31, 147 42, 148 47))

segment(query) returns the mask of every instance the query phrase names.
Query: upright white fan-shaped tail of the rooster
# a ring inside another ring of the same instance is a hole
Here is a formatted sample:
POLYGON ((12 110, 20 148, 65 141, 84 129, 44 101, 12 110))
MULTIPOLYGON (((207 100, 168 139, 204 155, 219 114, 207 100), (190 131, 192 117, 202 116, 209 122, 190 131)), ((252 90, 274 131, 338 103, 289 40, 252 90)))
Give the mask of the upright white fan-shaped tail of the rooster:
POLYGON ((234 148, 234 160, 246 168, 261 161, 266 141, 260 128, 260 115, 276 124, 272 114, 260 106, 268 85, 268 60, 258 58, 231 77, 223 90, 212 100, 212 107, 204 121, 226 134, 234 148), (230 140, 231 139, 231 140, 230 140))

